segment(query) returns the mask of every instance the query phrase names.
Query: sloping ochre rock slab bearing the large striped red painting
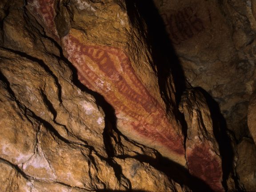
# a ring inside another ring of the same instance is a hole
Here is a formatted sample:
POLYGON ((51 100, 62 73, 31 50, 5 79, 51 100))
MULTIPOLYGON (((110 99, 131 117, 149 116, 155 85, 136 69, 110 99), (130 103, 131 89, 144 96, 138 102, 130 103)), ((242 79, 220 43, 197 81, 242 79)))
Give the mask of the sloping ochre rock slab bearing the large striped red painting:
POLYGON ((28 10, 46 26, 52 38, 61 42, 64 56, 76 67, 79 80, 113 106, 117 128, 130 139, 156 148, 185 166, 180 124, 173 114, 171 117, 165 114, 166 106, 158 91, 157 76, 149 65, 151 56, 145 48, 146 42, 134 37, 131 40, 130 33, 140 31, 136 25, 129 25, 125 9, 111 1, 104 6, 91 2, 89 8, 77 1, 69 4, 72 15, 63 18, 64 23, 60 25, 54 17, 67 14, 64 3, 59 4, 63 8, 56 12, 53 0, 49 4, 38 1, 39 6, 36 2, 29 1, 28 10), (89 9, 86 19, 80 14, 81 8, 89 9), (108 27, 102 28, 106 21, 108 27), (89 28, 90 36, 77 28, 86 31, 89 28), (65 31, 64 36, 60 31, 65 31), (112 35, 99 38, 99 31, 101 36, 112 35), (136 50, 140 50, 140 54, 134 54, 136 50), (140 67, 141 64, 144 66, 140 67))

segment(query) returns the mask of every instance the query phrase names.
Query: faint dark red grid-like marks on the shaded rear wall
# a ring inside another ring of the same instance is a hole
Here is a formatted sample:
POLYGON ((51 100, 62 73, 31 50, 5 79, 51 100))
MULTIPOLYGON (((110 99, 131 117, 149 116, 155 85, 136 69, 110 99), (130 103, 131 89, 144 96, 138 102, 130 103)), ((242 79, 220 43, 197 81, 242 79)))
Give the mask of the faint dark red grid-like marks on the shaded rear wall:
POLYGON ((198 18, 192 7, 186 7, 174 13, 162 14, 173 44, 181 44, 204 30, 203 21, 198 18))

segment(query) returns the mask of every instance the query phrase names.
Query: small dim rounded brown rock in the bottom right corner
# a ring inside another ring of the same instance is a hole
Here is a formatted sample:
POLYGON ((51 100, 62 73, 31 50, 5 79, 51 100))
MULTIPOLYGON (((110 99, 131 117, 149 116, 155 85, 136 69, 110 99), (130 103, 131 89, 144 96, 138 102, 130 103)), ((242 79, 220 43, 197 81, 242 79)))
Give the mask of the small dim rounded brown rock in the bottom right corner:
POLYGON ((236 172, 245 191, 256 191, 256 146, 252 139, 244 138, 237 146, 239 159, 236 172))

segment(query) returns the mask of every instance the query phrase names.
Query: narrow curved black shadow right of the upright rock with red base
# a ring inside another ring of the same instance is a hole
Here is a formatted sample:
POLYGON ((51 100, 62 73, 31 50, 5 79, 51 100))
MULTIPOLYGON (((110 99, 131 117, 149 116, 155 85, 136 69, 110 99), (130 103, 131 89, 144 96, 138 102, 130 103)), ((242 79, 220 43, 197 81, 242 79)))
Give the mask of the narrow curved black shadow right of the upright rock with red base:
POLYGON ((219 104, 203 88, 197 87, 195 89, 203 93, 206 99, 206 102, 208 104, 209 110, 211 112, 213 133, 219 144, 220 156, 222 158, 222 171, 223 171, 222 184, 225 190, 227 191, 228 189, 227 180, 228 180, 228 176, 231 174, 231 176, 235 181, 236 189, 241 190, 240 185, 238 184, 238 178, 236 178, 236 175, 233 172, 233 161, 234 161, 235 154, 234 154, 234 149, 232 147, 232 140, 228 135, 228 133, 230 135, 232 133, 229 132, 227 128, 226 120, 220 112, 219 104))

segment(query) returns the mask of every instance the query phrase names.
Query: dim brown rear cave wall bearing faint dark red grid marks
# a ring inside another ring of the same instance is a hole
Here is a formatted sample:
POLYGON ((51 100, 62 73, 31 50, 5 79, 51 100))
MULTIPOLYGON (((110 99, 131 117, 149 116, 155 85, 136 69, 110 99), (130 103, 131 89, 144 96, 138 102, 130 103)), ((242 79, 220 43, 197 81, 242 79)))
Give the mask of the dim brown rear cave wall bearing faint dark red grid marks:
MULTIPOLYGON (((154 0, 154 3, 186 80, 193 87, 206 90, 220 106, 224 117, 220 133, 225 129, 233 133, 226 132, 227 136, 218 139, 223 146, 230 144, 221 155, 232 151, 229 153, 232 157, 226 159, 229 163, 223 166, 232 164, 234 169, 236 161, 244 156, 241 150, 236 152, 236 144, 240 145, 244 137, 255 139, 255 96, 251 95, 256 89, 256 1, 154 0)), ((250 164, 248 161, 246 166, 250 164)), ((240 184, 245 186, 247 181, 241 179, 245 174, 241 170, 236 169, 232 174, 233 178, 240 177, 240 184)), ((230 188, 239 186, 230 181, 230 188)))

